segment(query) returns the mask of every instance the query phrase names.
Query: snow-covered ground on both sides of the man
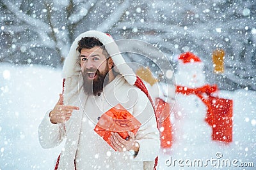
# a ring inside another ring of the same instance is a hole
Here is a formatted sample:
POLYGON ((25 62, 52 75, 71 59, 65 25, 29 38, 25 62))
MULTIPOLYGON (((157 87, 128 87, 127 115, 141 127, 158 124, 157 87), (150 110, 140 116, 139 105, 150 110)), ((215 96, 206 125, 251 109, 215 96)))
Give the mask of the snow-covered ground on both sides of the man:
MULTIPOLYGON (((58 101, 61 90, 60 69, 0 64, 0 169, 54 168, 63 145, 48 150, 41 148, 37 128, 45 111, 51 109, 58 101)), ((234 101, 232 143, 225 145, 209 140, 206 145, 201 145, 200 140, 195 140, 188 148, 174 143, 172 150, 164 154, 159 153, 159 169, 186 169, 186 163, 195 159, 209 159, 208 166, 202 169, 255 169, 256 92, 247 89, 234 92, 221 90, 220 96, 234 101), (170 161, 166 162, 170 158, 172 165, 170 161), (223 159, 235 162, 238 166, 252 162, 254 167, 234 167, 232 164, 230 167, 212 166, 223 159)), ((188 131, 195 133, 193 127, 188 131)), ((188 168, 198 169, 195 166, 188 168)))

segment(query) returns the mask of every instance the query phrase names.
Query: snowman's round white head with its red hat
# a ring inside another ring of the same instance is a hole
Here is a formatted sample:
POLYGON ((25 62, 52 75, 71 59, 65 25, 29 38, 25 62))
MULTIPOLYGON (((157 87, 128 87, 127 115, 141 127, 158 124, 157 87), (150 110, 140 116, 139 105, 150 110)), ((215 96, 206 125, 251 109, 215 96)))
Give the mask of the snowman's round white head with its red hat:
POLYGON ((204 64, 195 54, 191 52, 179 55, 176 84, 190 88, 205 85, 204 64))

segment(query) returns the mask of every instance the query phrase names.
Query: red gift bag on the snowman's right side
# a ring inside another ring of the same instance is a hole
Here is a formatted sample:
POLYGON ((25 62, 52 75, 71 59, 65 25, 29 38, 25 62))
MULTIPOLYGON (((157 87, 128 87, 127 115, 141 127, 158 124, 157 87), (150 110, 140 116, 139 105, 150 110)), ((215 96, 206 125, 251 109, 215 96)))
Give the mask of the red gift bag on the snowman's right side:
POLYGON ((233 101, 209 96, 205 121, 212 126, 212 140, 232 142, 233 101))

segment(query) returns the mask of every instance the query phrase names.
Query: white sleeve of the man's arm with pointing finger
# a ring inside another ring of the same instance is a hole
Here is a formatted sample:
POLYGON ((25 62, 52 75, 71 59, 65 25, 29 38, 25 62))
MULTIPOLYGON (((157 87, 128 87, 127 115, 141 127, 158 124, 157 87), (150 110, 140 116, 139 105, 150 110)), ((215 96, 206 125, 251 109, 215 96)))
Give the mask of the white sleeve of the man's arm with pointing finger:
POLYGON ((60 145, 66 134, 64 124, 51 123, 50 112, 51 110, 47 111, 38 127, 38 138, 42 148, 54 148, 60 145))

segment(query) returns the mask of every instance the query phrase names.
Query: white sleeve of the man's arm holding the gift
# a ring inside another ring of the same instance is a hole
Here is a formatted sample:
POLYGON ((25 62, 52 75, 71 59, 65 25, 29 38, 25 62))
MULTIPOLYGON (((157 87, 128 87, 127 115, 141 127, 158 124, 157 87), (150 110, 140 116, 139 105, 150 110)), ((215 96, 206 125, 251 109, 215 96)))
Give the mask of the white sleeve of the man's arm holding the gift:
POLYGON ((140 94, 138 103, 134 106, 134 116, 141 122, 141 127, 135 139, 140 145, 134 161, 152 161, 156 159, 160 149, 159 131, 152 104, 145 94, 140 94))

